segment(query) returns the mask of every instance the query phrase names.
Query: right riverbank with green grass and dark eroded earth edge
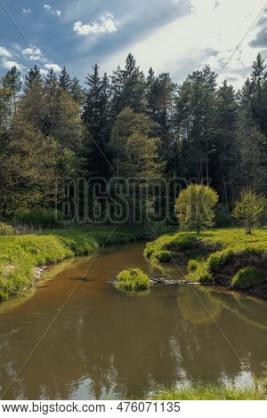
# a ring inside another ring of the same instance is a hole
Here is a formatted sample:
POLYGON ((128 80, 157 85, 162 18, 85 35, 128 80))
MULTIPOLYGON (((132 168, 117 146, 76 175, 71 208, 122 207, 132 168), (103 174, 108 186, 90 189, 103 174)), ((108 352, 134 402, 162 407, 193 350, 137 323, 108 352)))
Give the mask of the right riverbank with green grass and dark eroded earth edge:
POLYGON ((179 232, 158 237, 144 251, 152 261, 186 261, 188 280, 223 285, 267 299, 267 230, 179 232))

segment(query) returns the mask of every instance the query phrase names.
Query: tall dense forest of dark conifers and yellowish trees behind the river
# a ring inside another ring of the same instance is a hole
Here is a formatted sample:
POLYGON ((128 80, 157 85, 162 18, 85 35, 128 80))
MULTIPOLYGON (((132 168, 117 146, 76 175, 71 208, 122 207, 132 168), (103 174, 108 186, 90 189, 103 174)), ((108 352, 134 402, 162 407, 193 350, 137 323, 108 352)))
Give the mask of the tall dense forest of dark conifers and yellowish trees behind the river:
POLYGON ((167 72, 144 74, 131 53, 112 75, 95 64, 85 84, 65 67, 46 75, 37 66, 26 76, 8 70, 0 84, 0 219, 61 205, 64 192, 55 195, 55 184, 62 189, 76 179, 94 190, 89 213, 103 205, 103 196, 108 206, 101 213, 114 213, 112 190, 119 183, 130 207, 120 218, 125 223, 136 221, 134 197, 154 220, 166 218, 166 207, 172 218, 179 188, 193 182, 217 191, 217 226, 230 226, 242 189, 266 193, 263 57, 257 55, 239 91, 217 79, 205 66, 177 84, 167 72), (125 189, 125 180, 131 187, 125 189), (93 187, 100 182, 101 190, 93 187))

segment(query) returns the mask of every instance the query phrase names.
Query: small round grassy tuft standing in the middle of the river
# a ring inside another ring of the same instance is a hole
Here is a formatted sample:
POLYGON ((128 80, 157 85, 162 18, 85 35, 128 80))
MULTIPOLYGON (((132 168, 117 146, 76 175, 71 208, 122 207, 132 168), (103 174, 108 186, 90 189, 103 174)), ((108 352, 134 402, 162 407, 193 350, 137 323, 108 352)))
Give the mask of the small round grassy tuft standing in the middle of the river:
POLYGON ((125 269, 117 275, 116 288, 124 293, 144 292, 150 288, 150 277, 142 269, 125 269))

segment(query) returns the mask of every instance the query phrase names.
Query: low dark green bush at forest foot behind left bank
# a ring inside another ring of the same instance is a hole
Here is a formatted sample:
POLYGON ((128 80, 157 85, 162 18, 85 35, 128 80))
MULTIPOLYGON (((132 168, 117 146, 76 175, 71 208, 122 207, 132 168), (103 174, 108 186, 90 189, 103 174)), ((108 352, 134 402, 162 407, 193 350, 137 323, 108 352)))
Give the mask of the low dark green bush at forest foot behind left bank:
POLYGON ((63 222, 63 216, 61 212, 55 209, 46 209, 44 207, 18 209, 14 215, 13 222, 35 227, 53 228, 63 222))

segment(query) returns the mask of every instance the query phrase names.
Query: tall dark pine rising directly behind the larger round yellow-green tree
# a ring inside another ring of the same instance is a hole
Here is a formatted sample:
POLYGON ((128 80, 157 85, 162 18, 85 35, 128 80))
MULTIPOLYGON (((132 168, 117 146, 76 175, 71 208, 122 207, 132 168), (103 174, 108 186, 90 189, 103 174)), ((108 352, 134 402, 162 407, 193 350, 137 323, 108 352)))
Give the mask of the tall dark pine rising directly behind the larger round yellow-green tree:
POLYGON ((179 87, 176 124, 183 138, 187 176, 199 183, 211 177, 209 165, 214 153, 216 74, 206 66, 187 76, 179 87))

